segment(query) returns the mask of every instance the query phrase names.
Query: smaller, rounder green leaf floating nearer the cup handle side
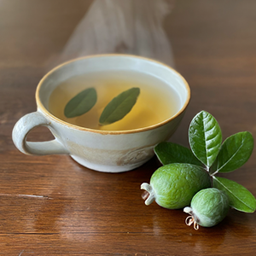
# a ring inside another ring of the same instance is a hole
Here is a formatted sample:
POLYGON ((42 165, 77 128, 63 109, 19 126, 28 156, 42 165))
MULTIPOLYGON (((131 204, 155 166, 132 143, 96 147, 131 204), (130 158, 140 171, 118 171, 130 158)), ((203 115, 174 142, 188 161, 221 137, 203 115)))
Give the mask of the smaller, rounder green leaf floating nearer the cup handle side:
POLYGON ((96 104, 96 101, 96 90, 94 88, 85 89, 67 102, 64 114, 67 118, 82 115, 88 112, 96 104))

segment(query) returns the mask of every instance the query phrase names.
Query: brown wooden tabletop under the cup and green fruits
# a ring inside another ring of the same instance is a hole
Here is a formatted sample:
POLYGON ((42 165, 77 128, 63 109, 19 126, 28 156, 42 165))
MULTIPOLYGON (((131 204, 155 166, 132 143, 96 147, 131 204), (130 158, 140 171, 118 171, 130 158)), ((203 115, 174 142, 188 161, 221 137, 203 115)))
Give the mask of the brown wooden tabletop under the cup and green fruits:
MULTIPOLYGON (((134 171, 108 174, 67 155, 28 156, 15 148, 15 122, 36 110, 38 81, 60 60, 90 3, 0 2, 0 254, 255 255, 255 213, 230 210, 221 224, 196 231, 184 224, 182 210, 146 207, 140 184, 160 166, 156 158, 134 171)), ((140 3, 148 14, 150 4, 140 3)), ((180 0, 166 15, 162 28, 175 67, 192 91, 172 142, 189 146, 189 122, 202 109, 218 119, 224 138, 238 131, 256 138, 255 10, 254 0, 180 0)), ((137 54, 127 44, 115 47, 137 54)), ((38 128, 29 139, 51 137, 38 128)), ((224 177, 256 195, 255 172, 254 150, 245 166, 224 177)))

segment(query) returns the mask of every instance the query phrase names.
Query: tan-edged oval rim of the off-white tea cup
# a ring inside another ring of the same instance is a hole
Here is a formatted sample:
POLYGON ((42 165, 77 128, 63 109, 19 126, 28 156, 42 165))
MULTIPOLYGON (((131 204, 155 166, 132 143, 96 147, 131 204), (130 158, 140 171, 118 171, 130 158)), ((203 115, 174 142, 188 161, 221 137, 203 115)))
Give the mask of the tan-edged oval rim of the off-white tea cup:
POLYGON ((61 123, 61 125, 65 125, 69 128, 73 128, 73 129, 76 129, 76 130, 79 130, 79 131, 90 131, 90 132, 100 133, 100 134, 104 134, 104 135, 106 135, 106 134, 129 134, 129 133, 137 133, 137 132, 142 132, 142 131, 154 130, 155 128, 158 128, 162 125, 166 125, 167 123, 172 121, 172 119, 176 119, 177 116, 182 114, 185 111, 185 109, 188 107, 189 101, 190 101, 189 84, 183 78, 183 76, 180 73, 178 73, 174 68, 169 67, 168 65, 166 65, 163 62, 155 61, 155 60, 149 59, 147 57, 142 57, 142 56, 138 56, 138 55, 126 55, 126 54, 86 55, 86 56, 82 56, 82 57, 79 57, 79 58, 75 58, 75 59, 70 60, 70 61, 65 61, 65 62, 61 63, 60 65, 51 69, 48 73, 46 73, 44 75, 44 77, 39 81, 38 87, 37 87, 37 90, 36 90, 36 102, 37 102, 38 108, 46 116, 48 116, 50 119, 54 119, 57 123, 61 123), (172 117, 170 117, 169 119, 165 119, 165 120, 163 120, 160 123, 157 123, 155 125, 149 125, 149 126, 145 126, 143 128, 137 128, 137 129, 131 129, 131 130, 122 130, 122 131, 103 131, 103 130, 96 130, 96 129, 86 128, 86 127, 82 127, 82 126, 79 126, 79 125, 73 125, 73 124, 67 123, 66 121, 64 121, 62 119, 58 119, 57 117, 55 117, 54 114, 49 113, 49 111, 44 107, 44 104, 40 101, 39 90, 40 90, 42 84, 44 84, 44 80, 47 79, 51 73, 54 73, 56 70, 60 69, 63 66, 66 66, 67 64, 69 64, 71 62, 74 62, 74 61, 79 61, 79 60, 84 60, 84 59, 89 59, 89 58, 96 58, 96 57, 111 57, 111 56, 124 56, 124 57, 132 57, 132 58, 142 59, 142 60, 145 60, 145 61, 154 62, 154 63, 156 63, 160 66, 164 66, 164 67, 167 67, 168 69, 172 70, 172 72, 176 73, 180 77, 180 79, 183 80, 183 84, 185 85, 186 90, 188 92, 188 96, 187 96, 186 102, 184 102, 184 104, 183 104, 183 107, 177 113, 172 115, 172 117))

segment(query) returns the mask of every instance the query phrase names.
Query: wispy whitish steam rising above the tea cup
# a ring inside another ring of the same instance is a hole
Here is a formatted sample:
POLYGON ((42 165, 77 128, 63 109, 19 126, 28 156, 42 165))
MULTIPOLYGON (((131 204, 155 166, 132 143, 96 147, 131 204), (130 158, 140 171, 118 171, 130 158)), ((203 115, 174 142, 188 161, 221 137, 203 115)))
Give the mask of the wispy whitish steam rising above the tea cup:
POLYGON ((162 23, 173 1, 95 0, 69 38, 58 63, 103 53, 142 55, 174 66, 162 23))

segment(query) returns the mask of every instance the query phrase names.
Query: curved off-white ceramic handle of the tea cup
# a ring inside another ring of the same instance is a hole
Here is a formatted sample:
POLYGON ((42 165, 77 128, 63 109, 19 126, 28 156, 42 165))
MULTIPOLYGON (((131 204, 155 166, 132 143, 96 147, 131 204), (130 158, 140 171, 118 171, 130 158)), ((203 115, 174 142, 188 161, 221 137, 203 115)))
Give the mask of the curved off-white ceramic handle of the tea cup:
MULTIPOLYGON (((16 148, 24 154, 69 154, 62 143, 55 137, 54 140, 48 142, 32 143, 26 141, 26 136, 34 127, 46 126, 49 128, 50 121, 44 118, 40 112, 27 113, 16 123, 13 129, 13 141, 16 148)), ((50 130, 50 129, 49 129, 50 130)))

